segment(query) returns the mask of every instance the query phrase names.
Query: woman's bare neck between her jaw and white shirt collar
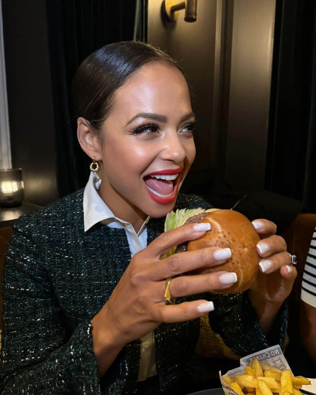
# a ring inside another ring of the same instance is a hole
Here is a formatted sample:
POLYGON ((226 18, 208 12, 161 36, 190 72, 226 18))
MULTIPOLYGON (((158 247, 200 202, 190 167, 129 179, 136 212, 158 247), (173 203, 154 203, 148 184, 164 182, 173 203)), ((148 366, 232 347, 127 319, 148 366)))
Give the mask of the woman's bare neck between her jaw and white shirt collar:
POLYGON ((139 232, 147 218, 147 214, 132 205, 108 182, 101 182, 98 194, 117 218, 129 222, 135 232, 139 232))

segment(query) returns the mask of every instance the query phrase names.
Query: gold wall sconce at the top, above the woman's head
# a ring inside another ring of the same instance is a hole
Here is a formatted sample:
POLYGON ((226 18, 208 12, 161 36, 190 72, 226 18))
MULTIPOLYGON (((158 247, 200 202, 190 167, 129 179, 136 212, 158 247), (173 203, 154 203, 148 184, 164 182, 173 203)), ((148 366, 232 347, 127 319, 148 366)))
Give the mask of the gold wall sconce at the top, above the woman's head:
POLYGON ((196 8, 198 0, 164 0, 162 2, 162 14, 168 22, 176 22, 179 18, 179 11, 185 9, 184 21, 196 21, 196 8))

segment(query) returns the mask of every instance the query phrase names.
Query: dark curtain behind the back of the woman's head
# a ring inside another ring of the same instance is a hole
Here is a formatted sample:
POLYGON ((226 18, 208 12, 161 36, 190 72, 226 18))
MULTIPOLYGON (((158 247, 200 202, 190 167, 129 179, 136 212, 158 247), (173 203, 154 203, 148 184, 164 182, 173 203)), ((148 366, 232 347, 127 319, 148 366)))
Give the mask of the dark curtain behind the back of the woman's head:
POLYGON ((103 45, 134 37, 145 41, 145 8, 145 0, 46 0, 60 197, 85 186, 91 162, 76 136, 75 71, 103 45))

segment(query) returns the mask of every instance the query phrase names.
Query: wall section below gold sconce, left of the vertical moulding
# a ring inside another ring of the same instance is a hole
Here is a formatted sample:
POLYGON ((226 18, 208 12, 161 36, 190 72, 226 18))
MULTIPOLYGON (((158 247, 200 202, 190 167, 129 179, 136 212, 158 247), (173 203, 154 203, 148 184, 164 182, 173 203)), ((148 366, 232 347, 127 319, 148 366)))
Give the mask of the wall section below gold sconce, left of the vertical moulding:
POLYGON ((212 131, 216 1, 199 0, 194 23, 184 22, 184 10, 176 23, 165 22, 161 2, 148 2, 148 42, 167 51, 184 69, 194 93, 192 109, 199 120, 195 134, 198 154, 182 186, 184 191, 209 174, 216 163, 216 133, 212 131))

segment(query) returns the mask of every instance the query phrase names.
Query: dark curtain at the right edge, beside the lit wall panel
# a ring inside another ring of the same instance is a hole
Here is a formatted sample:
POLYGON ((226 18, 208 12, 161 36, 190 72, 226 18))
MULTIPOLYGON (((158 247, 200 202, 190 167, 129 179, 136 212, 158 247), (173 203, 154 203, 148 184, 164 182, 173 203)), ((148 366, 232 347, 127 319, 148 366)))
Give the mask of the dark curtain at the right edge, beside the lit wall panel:
POLYGON ((266 189, 316 212, 316 2, 276 0, 266 189))

